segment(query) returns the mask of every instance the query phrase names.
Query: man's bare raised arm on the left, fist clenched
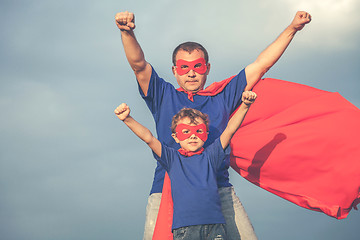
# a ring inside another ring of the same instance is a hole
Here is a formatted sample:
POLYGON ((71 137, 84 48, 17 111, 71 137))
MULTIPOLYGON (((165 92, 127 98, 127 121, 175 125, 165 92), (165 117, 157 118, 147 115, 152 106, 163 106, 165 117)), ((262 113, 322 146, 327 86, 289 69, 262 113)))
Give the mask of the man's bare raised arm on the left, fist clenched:
POLYGON ((152 69, 150 64, 146 62, 144 52, 135 37, 135 15, 128 11, 117 13, 115 23, 121 32, 126 58, 135 73, 141 90, 146 95, 152 69))

